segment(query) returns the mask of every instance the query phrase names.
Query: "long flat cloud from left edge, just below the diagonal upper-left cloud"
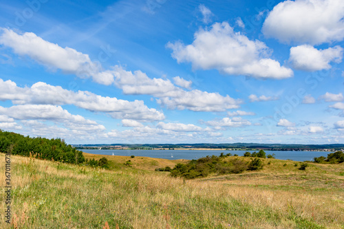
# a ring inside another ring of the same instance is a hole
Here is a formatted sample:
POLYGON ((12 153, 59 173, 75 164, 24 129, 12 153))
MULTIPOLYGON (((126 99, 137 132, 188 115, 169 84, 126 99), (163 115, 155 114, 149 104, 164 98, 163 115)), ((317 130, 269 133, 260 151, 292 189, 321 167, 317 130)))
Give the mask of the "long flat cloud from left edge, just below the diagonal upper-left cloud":
POLYGON ((135 120, 163 120, 164 113, 149 109, 142 100, 119 100, 103 97, 89 91, 69 91, 59 86, 39 82, 32 87, 18 87, 11 80, 0 79, 0 100, 14 104, 75 105, 89 111, 105 112, 113 118, 135 120))

